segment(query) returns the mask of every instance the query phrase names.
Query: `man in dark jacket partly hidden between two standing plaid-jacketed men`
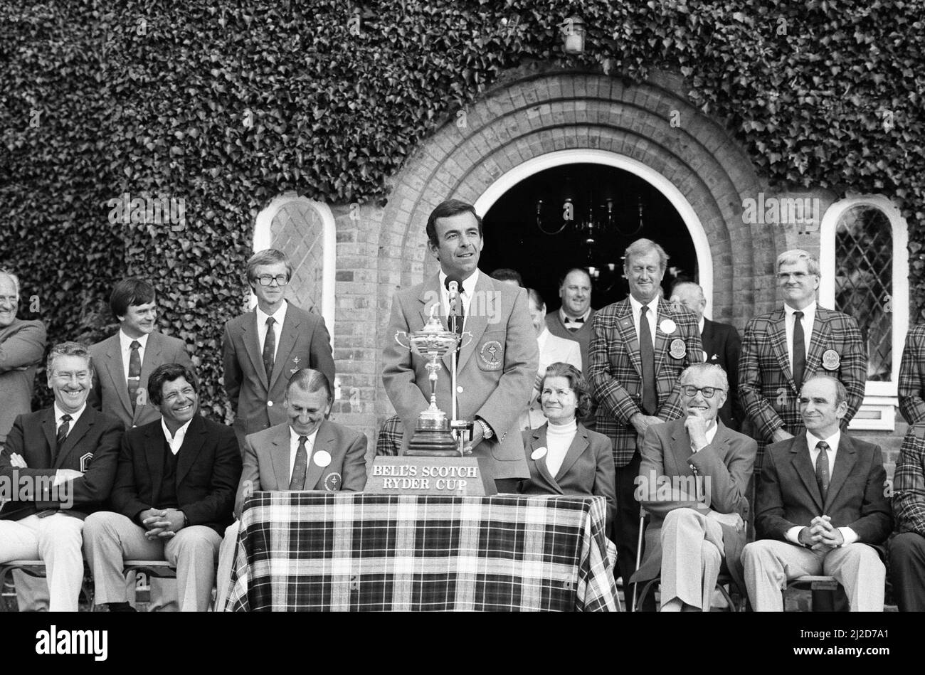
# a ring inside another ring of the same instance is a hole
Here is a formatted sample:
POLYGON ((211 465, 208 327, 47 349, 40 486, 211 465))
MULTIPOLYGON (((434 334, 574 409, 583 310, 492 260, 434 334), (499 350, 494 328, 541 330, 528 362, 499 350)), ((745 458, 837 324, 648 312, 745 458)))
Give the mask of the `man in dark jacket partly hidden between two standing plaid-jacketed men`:
POLYGON ((720 419, 730 429, 739 430, 744 418, 742 402, 739 400, 739 353, 742 341, 734 325, 710 321, 703 315, 707 299, 693 281, 682 281, 672 288, 672 304, 680 304, 697 316, 700 341, 703 343, 704 359, 720 366, 729 379, 729 396, 720 409, 720 419))

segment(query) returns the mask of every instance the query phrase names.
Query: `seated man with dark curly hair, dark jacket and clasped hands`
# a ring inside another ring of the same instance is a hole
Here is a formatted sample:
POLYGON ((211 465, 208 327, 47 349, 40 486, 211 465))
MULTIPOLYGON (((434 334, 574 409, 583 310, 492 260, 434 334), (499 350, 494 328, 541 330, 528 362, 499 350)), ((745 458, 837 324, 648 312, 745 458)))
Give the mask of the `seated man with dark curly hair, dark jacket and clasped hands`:
POLYGON ((110 497, 116 512, 99 511, 84 523, 96 602, 133 611, 123 561, 166 559, 177 568, 180 611, 204 611, 240 478, 238 443, 231 427, 198 414, 196 380, 185 366, 155 368, 148 392, 161 419, 122 438, 110 497))

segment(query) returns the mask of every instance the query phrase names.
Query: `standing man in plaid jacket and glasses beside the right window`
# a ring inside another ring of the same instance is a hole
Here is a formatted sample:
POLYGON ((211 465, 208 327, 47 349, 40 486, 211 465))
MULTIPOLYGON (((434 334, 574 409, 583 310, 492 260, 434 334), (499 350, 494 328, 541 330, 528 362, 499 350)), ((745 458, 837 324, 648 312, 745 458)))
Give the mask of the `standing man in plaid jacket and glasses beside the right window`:
POLYGON ((800 387, 817 374, 830 375, 848 391, 844 431, 864 399, 867 350, 857 321, 816 304, 819 261, 799 249, 777 257, 783 308, 748 321, 739 361, 739 396, 759 433, 755 471, 764 447, 803 430, 800 387), (794 349, 795 344, 800 349, 794 349))

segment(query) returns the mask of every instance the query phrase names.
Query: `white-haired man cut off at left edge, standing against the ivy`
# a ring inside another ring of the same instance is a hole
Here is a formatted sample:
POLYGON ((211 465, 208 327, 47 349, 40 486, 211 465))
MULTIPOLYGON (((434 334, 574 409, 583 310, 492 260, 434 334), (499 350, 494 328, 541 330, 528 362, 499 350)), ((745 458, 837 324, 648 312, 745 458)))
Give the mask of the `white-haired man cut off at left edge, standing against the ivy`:
POLYGON ((19 311, 19 278, 0 268, 0 448, 13 420, 32 410, 35 368, 45 351, 45 326, 23 321, 19 311))

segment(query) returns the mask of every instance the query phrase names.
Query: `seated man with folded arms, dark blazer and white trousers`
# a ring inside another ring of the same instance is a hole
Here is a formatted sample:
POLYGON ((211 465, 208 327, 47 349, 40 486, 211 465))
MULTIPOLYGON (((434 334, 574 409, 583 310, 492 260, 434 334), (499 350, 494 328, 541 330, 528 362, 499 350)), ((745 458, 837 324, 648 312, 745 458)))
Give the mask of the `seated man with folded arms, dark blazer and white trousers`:
POLYGON ((55 404, 19 415, 0 452, 0 477, 14 488, 0 509, 0 562, 44 560, 49 610, 76 612, 83 519, 109 497, 122 423, 87 406, 93 363, 83 345, 53 347, 47 374, 55 404))

